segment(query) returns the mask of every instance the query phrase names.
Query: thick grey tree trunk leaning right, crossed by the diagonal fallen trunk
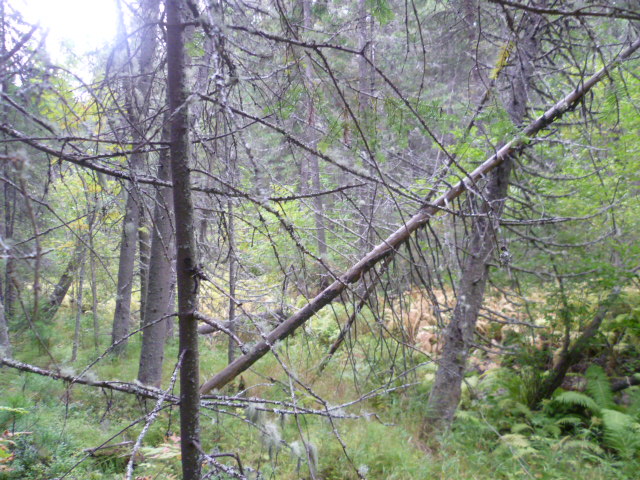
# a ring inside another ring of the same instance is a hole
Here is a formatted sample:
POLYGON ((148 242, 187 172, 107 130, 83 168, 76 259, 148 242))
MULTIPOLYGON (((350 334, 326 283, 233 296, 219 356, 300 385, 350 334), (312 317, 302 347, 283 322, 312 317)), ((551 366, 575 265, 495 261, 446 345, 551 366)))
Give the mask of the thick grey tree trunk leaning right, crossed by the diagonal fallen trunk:
MULTIPOLYGON (((528 86, 533 75, 532 62, 538 52, 536 37, 540 22, 538 15, 528 12, 523 15, 525 18, 514 54, 514 67, 508 71, 510 87, 508 100, 505 102, 511 121, 518 127, 526 114, 528 86)), ((426 408, 425 433, 437 427, 448 428, 460 402, 478 312, 484 300, 488 264, 493 255, 498 237, 498 221, 507 198, 511 166, 512 159, 506 159, 489 174, 482 197, 473 195, 469 201, 471 213, 475 214, 471 222, 469 253, 462 264, 453 316, 444 331, 444 346, 426 408)))

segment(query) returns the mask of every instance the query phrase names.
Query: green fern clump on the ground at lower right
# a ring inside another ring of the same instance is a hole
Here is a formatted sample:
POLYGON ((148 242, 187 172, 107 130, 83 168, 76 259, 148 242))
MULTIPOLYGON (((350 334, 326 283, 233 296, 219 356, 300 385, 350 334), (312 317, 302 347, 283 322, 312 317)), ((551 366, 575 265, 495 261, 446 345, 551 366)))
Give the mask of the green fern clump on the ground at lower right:
MULTIPOLYGON (((478 396, 483 400, 475 400, 469 411, 458 415, 456 429, 491 425, 498 442, 496 455, 519 459, 529 468, 551 457, 563 459, 558 465, 576 468, 583 459, 607 469, 622 466, 615 475, 633 478, 631 472, 640 460, 640 424, 634 407, 637 393, 631 392, 625 411, 614 402, 604 370, 593 365, 585 373, 585 392, 561 391, 542 410, 532 410, 522 403, 527 380, 521 373, 501 368, 485 374, 478 385, 478 396), (624 463, 618 464, 616 459, 624 463)), ((563 478, 559 471, 554 475, 550 478, 563 478)))

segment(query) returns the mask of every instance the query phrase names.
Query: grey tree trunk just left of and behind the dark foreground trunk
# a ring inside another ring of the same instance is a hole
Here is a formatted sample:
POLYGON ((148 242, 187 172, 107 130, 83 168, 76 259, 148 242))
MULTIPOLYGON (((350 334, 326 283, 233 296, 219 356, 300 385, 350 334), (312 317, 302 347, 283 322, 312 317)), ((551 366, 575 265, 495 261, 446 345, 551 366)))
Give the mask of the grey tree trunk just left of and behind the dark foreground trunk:
MULTIPOLYGON (((165 121, 165 124, 168 120, 165 121)), ((166 132, 168 134, 168 132, 166 132)), ((163 135, 163 140, 168 140, 163 135)), ((160 152, 158 179, 171 180, 169 153, 160 152)), ((170 188, 158 187, 153 212, 153 233, 149 262, 149 285, 145 312, 142 315, 142 348, 138 380, 143 385, 159 387, 162 382, 164 344, 167 336, 167 314, 171 313, 173 289, 172 262, 175 251, 173 226, 173 197, 170 188)))

